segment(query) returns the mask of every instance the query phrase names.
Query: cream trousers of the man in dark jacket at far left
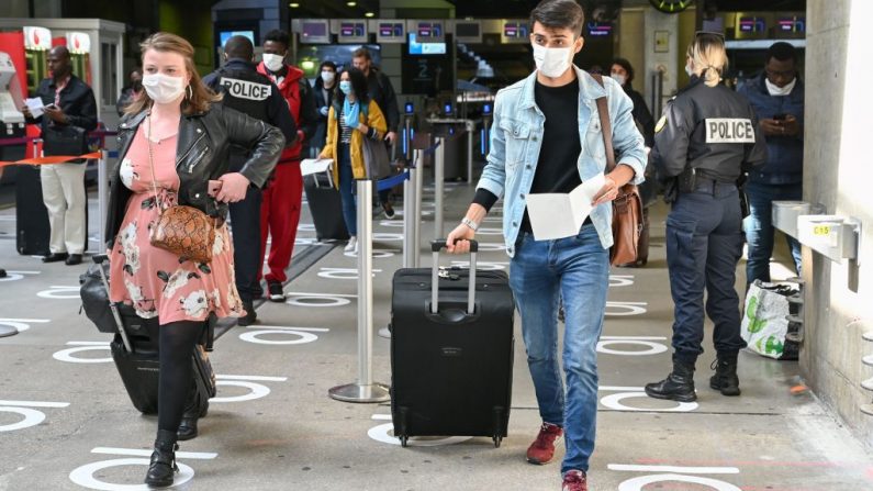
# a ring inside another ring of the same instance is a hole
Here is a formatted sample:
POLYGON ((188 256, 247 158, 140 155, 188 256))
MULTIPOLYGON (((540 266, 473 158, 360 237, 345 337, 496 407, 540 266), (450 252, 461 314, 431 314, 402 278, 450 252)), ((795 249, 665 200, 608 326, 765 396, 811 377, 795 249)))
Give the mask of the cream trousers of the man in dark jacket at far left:
POLYGON ((48 210, 52 254, 82 254, 86 242, 85 167, 82 164, 57 164, 40 167, 43 202, 48 210))

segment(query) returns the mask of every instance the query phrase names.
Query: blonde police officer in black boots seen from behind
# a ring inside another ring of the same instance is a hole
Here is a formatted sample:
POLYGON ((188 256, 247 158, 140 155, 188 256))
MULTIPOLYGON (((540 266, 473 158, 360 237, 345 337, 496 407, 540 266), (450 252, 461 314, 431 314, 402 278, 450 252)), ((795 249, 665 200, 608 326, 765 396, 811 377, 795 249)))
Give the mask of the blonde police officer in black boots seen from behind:
POLYGON ((654 135, 654 165, 673 208, 667 217, 667 264, 673 295, 673 371, 646 386, 657 399, 691 402, 694 365, 703 353, 706 314, 715 324, 718 359, 709 387, 739 395, 739 298, 734 288, 742 255, 742 215, 737 182, 766 159, 764 138, 749 101, 719 85, 727 66, 725 40, 697 33, 685 70, 691 83, 667 107, 654 135))

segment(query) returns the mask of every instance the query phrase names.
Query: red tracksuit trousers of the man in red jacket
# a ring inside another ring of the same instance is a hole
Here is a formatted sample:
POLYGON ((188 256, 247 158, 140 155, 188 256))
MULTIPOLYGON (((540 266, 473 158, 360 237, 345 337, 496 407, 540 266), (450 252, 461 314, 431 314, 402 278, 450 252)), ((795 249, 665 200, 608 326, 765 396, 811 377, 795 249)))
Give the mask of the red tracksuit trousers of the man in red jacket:
MULTIPOLYGON (((291 263, 294 241, 300 223, 300 208, 303 201, 303 176, 300 161, 279 163, 273 179, 264 190, 260 207, 260 257, 267 252, 267 235, 271 237, 270 255, 267 258, 267 281, 288 280, 286 268, 291 263)), ((261 270, 258 269, 258 280, 261 270)))

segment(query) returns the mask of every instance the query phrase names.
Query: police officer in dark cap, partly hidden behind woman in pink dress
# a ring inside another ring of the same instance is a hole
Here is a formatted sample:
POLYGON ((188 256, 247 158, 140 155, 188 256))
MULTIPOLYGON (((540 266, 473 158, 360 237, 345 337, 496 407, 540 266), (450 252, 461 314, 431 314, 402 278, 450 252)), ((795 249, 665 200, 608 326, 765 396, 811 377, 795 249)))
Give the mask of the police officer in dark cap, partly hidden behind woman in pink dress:
MULTIPOLYGON (((231 36, 224 44, 226 64, 203 78, 216 92, 224 93, 224 105, 277 126, 286 137, 286 145, 298 140, 296 125, 279 89, 267 76, 258 74, 254 62, 255 48, 245 36, 231 36)), ((248 148, 231 150, 231 171, 238 171, 246 161, 248 148)), ((234 272, 236 289, 246 309, 239 325, 250 325, 257 319, 253 302, 264 294, 258 272, 264 267, 260 253, 261 191, 251 186, 243 201, 231 203, 234 237, 234 272)))

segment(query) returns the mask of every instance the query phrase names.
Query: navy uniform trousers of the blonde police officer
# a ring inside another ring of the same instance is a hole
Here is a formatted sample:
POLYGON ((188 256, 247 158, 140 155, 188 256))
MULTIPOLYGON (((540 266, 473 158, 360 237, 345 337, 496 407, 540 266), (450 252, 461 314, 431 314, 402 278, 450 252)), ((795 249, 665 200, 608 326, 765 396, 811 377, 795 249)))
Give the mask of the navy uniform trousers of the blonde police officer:
POLYGON ((667 264, 675 304, 673 348, 680 360, 693 364, 703 353, 704 291, 716 350, 746 347, 735 288, 742 242, 736 186, 706 179, 693 192, 679 194, 667 217, 667 264))

